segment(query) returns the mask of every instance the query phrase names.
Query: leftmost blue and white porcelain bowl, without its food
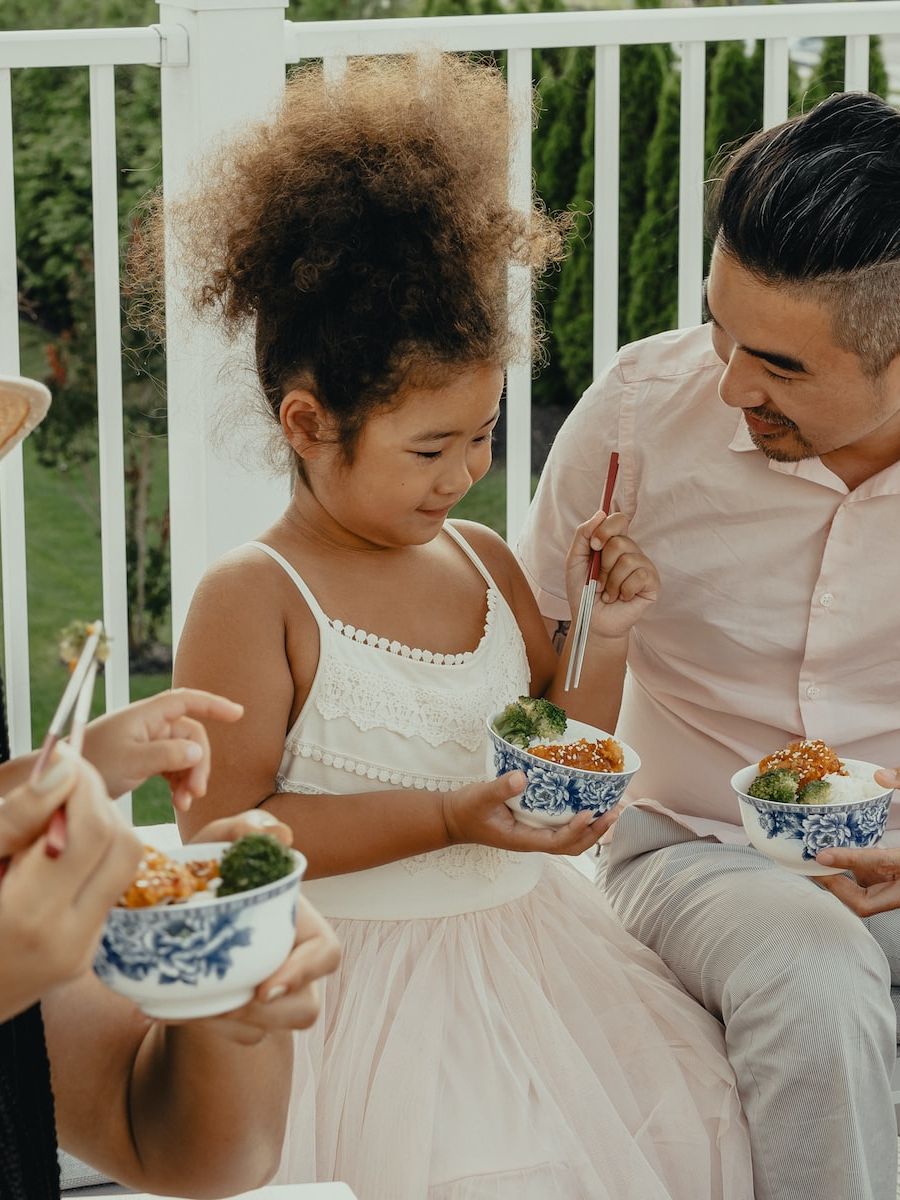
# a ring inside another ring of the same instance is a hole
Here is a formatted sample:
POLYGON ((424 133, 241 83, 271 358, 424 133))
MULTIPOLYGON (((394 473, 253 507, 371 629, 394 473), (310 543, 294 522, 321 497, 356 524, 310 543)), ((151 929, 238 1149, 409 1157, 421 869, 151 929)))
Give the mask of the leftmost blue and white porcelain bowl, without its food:
MULTIPOLYGON (((221 858, 230 842, 168 847, 180 863, 221 858)), ((148 1016, 184 1020, 240 1008, 281 966, 294 944, 306 859, 274 883, 216 898, 200 892, 184 904, 113 908, 94 970, 148 1016)))

